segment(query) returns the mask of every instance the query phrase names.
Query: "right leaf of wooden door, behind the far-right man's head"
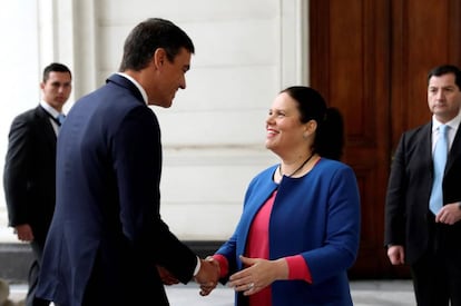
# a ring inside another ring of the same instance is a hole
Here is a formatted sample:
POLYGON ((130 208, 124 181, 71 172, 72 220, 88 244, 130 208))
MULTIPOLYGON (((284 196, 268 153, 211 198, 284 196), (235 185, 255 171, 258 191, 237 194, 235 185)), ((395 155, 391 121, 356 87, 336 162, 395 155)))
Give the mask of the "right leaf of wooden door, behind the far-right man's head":
POLYGON ((392 148, 404 130, 430 120, 428 71, 460 63, 459 0, 393 0, 392 148), (458 18, 455 18, 458 16, 458 18))

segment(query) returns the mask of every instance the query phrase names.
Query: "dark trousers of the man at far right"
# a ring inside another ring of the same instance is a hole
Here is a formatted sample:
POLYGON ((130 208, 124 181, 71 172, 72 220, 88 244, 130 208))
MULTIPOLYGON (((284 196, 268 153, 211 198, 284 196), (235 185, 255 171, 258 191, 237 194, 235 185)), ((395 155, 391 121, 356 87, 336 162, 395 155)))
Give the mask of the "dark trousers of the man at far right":
POLYGON ((461 257, 448 244, 448 227, 432 225, 426 253, 411 265, 418 306, 461 306, 461 257))

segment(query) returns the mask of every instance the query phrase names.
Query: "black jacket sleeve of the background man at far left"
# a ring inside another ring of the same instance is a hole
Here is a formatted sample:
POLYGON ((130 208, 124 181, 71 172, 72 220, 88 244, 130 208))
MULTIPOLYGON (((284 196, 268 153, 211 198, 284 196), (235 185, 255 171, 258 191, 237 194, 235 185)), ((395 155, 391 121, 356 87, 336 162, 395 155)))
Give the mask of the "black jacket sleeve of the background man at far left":
POLYGON ((9 226, 29 223, 28 176, 31 162, 31 127, 23 117, 13 120, 3 169, 3 188, 7 200, 9 226))

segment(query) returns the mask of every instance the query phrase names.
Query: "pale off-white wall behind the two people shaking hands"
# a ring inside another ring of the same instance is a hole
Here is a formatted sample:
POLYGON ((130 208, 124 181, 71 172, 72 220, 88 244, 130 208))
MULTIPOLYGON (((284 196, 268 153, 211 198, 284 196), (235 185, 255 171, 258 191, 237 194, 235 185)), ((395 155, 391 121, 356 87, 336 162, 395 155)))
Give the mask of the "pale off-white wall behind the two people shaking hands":
MULTIPOLYGON (((306 7, 304 0, 39 1, 38 66, 68 63, 77 99, 117 70, 136 23, 161 17, 182 27, 196 47, 187 89, 170 109, 153 108, 165 150, 161 214, 182 239, 226 239, 249 179, 276 162, 264 148, 273 98, 307 82, 306 7)), ((0 201, 1 225, 4 218, 0 201)))

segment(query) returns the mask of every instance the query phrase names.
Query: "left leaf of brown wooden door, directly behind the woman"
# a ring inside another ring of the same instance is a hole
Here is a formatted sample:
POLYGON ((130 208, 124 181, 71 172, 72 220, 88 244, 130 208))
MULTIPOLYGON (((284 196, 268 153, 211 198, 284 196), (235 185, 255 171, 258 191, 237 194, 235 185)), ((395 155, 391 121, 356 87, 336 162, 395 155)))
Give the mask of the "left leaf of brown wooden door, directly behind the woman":
POLYGON ((355 171, 362 233, 353 276, 382 269, 389 175, 389 10, 385 0, 311 1, 311 82, 343 116, 343 161, 355 171), (321 17, 317 12, 323 13, 321 17))

